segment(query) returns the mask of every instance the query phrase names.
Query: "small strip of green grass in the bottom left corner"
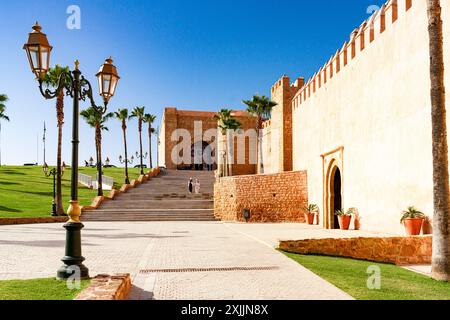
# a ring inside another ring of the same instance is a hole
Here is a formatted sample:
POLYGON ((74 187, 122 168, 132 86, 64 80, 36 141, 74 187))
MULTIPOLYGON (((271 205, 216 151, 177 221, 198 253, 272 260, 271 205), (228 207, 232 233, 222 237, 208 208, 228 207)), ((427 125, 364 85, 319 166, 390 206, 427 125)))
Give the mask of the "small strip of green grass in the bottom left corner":
POLYGON ((0 300, 73 300, 88 284, 83 280, 80 289, 70 290, 54 278, 0 281, 0 300))

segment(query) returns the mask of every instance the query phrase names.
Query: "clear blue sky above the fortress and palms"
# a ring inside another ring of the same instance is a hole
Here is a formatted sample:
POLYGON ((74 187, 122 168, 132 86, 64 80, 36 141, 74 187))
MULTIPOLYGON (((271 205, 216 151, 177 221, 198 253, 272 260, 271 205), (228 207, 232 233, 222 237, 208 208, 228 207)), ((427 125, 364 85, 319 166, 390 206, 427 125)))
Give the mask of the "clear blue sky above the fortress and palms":
MULTIPOLYGON (((164 107, 243 109, 242 99, 269 94, 283 74, 308 78, 369 17, 379 0, 21 0, 0 8, 0 93, 10 101, 2 123, 2 163, 42 162, 47 123, 47 162, 56 158, 54 101, 45 101, 29 70, 23 43, 37 20, 53 45, 51 64, 80 69, 97 90, 95 73, 112 55, 122 77, 111 100, 118 107, 144 105, 158 116, 164 107), (81 29, 69 30, 67 7, 81 9, 81 29), (5 14, 7 13, 7 14, 5 14)), ((96 96, 97 97, 97 96, 96 96)), ((100 97, 97 97, 100 103, 100 97)), ((82 106, 86 107, 86 106, 82 106)), ((70 163, 72 101, 66 99, 63 158, 70 163)), ((94 155, 94 132, 80 121, 80 162, 94 155)), ((104 134, 104 157, 117 164, 123 153, 118 121, 104 134)), ((138 149, 136 121, 128 130, 129 152, 138 149)), ((144 139, 147 146, 147 139, 144 139)), ((154 143, 156 146, 156 143, 154 143)), ((147 148, 146 148, 147 149, 147 148)), ((153 152, 155 154, 155 151, 153 152)), ((156 156, 155 156, 156 159, 156 156)))

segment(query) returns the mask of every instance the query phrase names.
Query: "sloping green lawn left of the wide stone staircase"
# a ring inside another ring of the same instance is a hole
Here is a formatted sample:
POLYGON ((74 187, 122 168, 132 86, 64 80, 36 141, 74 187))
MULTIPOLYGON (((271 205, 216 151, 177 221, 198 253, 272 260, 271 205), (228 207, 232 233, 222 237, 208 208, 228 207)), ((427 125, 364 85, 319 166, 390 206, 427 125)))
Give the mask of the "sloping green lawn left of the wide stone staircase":
MULTIPOLYGON (((95 178, 95 168, 80 167, 80 173, 95 178)), ((140 169, 129 170, 130 179, 139 177, 140 169)), ((105 168, 104 174, 114 178, 120 188, 124 182, 123 168, 105 168)), ((81 205, 89 205, 97 195, 96 190, 79 187, 81 205)), ((46 178, 42 167, 0 167, 0 218, 48 217, 53 197, 53 177, 46 178)), ((63 177, 63 202, 65 210, 70 200, 70 169, 63 177)))

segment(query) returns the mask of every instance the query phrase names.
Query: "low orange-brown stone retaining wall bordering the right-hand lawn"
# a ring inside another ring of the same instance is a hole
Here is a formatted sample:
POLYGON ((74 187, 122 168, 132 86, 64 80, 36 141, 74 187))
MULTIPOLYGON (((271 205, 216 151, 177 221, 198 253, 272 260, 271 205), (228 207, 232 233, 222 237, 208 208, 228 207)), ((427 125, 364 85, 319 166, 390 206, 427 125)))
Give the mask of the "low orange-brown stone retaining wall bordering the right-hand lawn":
POLYGON ((346 257, 396 265, 430 264, 432 237, 307 239, 280 241, 279 248, 291 253, 346 257))

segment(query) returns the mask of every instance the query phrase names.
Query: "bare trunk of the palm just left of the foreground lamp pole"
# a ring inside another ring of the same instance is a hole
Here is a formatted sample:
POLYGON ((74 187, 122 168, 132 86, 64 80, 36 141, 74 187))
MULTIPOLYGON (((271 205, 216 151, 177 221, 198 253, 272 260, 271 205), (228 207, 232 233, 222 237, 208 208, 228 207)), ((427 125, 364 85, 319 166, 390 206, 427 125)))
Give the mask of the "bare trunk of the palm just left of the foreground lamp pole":
POLYGON ((58 150, 56 155, 56 213, 65 215, 62 203, 62 127, 64 124, 64 92, 56 98, 56 115, 58 121, 58 150))

